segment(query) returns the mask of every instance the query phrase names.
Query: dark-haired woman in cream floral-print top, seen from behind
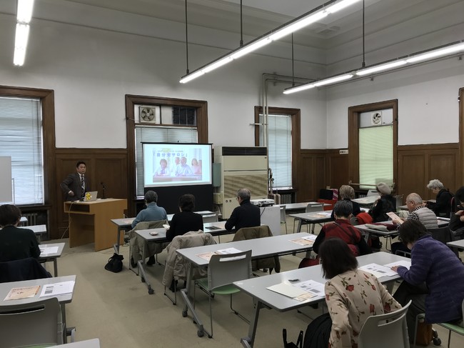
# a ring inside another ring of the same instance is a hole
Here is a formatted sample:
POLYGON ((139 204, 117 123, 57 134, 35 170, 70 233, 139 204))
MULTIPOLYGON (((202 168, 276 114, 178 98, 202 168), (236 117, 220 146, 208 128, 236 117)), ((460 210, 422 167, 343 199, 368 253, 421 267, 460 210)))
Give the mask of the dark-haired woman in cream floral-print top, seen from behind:
POLYGON ((319 255, 323 276, 329 279, 325 292, 332 320, 325 347, 358 347, 358 335, 368 317, 395 312, 401 305, 373 274, 358 269, 358 260, 343 240, 327 239, 319 255))

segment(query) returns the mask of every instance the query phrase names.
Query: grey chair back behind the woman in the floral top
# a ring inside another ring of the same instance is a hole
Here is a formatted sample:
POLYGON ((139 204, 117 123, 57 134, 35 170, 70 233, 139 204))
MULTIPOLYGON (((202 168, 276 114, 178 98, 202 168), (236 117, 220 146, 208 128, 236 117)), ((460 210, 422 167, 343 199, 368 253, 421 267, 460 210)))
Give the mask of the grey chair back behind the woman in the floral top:
POLYGON ((358 337, 358 348, 409 348, 406 312, 408 302, 398 311, 368 317, 358 337))

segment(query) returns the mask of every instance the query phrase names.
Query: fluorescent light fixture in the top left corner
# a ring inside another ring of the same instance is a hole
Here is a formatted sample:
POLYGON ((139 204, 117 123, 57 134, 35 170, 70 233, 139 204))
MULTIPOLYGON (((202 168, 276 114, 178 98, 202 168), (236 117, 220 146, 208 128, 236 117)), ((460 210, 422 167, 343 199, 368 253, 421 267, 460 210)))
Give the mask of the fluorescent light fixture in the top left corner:
POLYGON ((34 0, 18 0, 13 58, 13 64, 17 66, 23 65, 26 57, 27 42, 29 41, 29 22, 32 18, 33 8, 34 0))

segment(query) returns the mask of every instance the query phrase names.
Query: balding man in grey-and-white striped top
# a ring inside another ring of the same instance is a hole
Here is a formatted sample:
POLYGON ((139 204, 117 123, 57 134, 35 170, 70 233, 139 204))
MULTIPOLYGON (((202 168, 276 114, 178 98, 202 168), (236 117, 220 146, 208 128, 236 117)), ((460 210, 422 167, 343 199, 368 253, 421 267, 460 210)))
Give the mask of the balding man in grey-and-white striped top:
MULTIPOLYGON (((409 210, 409 216, 405 220, 418 220, 422 222, 426 229, 437 229, 438 220, 435 213, 425 207, 425 204, 418 194, 408 194, 406 197, 406 206, 409 210)), ((403 221, 393 219, 393 223, 401 224, 403 221)), ((410 249, 405 246, 402 242, 395 242, 391 244, 391 253, 396 254, 400 250, 403 252, 410 252, 410 249)))

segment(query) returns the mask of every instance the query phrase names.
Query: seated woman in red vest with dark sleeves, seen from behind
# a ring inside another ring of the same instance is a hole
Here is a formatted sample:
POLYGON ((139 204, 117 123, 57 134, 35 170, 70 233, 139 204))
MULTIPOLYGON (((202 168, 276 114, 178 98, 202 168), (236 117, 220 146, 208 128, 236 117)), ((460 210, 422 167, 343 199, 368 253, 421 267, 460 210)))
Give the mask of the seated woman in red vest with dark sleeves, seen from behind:
POLYGON ((326 224, 322 227, 313 244, 314 252, 319 254, 319 247, 324 239, 338 237, 348 244, 355 257, 370 254, 370 248, 366 244, 363 235, 359 229, 350 224, 352 212, 353 207, 349 201, 342 200, 335 204, 333 214, 336 220, 333 224, 326 224))

